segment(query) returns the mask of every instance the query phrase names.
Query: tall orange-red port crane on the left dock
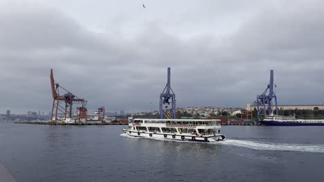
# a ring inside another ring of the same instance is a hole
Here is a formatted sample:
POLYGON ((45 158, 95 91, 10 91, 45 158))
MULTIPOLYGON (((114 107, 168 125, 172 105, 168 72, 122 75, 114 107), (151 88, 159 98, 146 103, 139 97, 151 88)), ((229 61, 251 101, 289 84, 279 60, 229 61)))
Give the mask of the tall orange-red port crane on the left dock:
MULTIPOLYGON (((51 89, 52 89, 52 97, 53 97, 53 106, 51 112, 52 123, 56 123, 57 117, 62 118, 62 116, 64 116, 64 120, 66 120, 66 118, 71 119, 73 103, 82 104, 83 112, 87 110, 87 108, 84 107, 87 104, 87 101, 84 101, 84 99, 80 99, 76 97, 74 94, 72 94, 65 88, 62 88, 62 86, 59 83, 55 83, 53 77, 53 69, 51 69, 50 79, 51 79, 51 89)), ((82 113, 82 115, 84 115, 84 113, 82 113)))

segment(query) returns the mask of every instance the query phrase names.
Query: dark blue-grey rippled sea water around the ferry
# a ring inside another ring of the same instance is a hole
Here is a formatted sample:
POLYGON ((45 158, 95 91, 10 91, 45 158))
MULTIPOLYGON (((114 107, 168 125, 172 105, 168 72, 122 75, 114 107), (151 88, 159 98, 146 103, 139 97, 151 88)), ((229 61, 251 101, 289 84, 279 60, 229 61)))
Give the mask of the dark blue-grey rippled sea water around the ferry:
POLYGON ((223 126, 222 143, 121 136, 121 125, 0 122, 17 181, 324 181, 324 127, 223 126))

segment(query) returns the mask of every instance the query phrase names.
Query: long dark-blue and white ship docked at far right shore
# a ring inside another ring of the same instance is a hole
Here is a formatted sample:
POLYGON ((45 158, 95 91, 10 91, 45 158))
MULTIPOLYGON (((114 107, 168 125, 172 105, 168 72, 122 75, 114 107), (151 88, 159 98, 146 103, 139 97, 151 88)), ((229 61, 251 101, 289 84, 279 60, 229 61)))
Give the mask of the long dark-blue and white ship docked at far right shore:
POLYGON ((296 119, 295 117, 267 116, 263 125, 324 125, 324 119, 296 119))

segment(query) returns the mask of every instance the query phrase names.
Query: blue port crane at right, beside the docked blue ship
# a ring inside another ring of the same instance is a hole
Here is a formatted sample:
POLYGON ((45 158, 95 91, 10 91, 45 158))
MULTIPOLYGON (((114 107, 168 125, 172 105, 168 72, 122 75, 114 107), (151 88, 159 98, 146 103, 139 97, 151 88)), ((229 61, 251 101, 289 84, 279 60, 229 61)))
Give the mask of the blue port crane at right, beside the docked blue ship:
POLYGON ((273 115, 273 98, 276 104, 276 115, 278 115, 277 96, 273 92, 273 70, 270 70, 270 83, 268 84, 266 90, 257 96, 256 100, 258 121, 260 121, 261 116, 266 117, 267 115, 273 115))

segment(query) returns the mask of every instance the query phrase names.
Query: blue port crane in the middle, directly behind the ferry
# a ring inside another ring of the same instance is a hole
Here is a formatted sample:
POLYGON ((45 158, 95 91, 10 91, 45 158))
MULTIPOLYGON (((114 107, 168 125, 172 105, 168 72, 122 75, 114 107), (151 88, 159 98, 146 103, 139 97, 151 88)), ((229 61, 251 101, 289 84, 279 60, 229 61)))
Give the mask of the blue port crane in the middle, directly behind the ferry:
MULTIPOLYGON (((172 119, 176 119, 176 99, 175 94, 170 85, 171 82, 171 68, 168 68, 168 83, 165 85, 163 92, 160 94, 160 119, 163 119, 163 115, 165 114, 163 111, 163 106, 167 109, 171 103, 172 110, 172 119), (171 101, 170 101, 171 99, 171 101)), ((168 114, 165 114, 165 117, 168 117, 168 114)))

